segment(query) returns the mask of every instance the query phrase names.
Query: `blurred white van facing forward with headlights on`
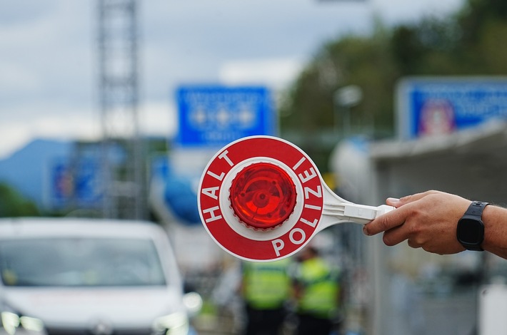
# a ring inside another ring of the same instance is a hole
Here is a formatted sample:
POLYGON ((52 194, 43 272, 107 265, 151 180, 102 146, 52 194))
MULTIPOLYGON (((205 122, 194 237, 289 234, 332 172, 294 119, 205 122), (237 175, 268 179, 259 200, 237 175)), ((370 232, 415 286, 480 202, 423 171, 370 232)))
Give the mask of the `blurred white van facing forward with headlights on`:
POLYGON ((166 232, 149 222, 0 220, 0 334, 192 332, 166 232))

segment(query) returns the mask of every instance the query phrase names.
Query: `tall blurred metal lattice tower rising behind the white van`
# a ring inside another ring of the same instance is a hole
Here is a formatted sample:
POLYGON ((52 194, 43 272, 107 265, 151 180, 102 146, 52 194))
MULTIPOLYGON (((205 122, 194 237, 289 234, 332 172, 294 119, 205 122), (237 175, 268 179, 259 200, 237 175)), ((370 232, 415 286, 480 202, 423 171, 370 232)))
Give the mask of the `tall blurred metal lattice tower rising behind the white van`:
POLYGON ((98 0, 103 214, 143 219, 136 0, 98 0))

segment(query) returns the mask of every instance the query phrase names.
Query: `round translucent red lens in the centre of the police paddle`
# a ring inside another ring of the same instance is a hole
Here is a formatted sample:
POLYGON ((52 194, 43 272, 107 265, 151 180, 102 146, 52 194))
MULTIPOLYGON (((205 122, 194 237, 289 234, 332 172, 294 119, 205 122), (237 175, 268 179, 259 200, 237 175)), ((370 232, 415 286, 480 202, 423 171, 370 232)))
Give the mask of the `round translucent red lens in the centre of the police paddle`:
POLYGON ((275 227, 294 210, 296 186, 277 165, 254 163, 232 181, 231 204, 246 225, 261 229, 275 227))

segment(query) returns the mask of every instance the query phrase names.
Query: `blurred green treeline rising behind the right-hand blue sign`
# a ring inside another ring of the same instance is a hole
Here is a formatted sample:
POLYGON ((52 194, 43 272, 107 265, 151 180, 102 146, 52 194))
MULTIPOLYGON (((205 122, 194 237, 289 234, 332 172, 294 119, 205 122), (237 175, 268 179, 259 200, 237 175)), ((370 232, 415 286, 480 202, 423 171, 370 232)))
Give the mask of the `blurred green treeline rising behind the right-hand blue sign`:
POLYGON ((281 135, 293 140, 323 171, 343 135, 339 88, 354 85, 363 98, 350 109, 353 133, 374 138, 394 132, 394 91, 404 76, 505 75, 507 1, 468 0, 450 16, 385 26, 375 19, 368 36, 327 41, 283 96, 281 135))

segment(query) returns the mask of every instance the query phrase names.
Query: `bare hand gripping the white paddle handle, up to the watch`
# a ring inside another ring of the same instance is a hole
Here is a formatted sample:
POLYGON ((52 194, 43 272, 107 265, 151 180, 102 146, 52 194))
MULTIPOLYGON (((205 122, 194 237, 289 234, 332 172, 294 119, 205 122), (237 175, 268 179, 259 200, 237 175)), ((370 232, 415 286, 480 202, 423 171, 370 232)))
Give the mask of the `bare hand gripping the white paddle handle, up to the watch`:
POLYGON ((389 198, 387 205, 396 207, 363 227, 366 235, 383 232, 388 246, 407 240, 413 248, 436 254, 456 254, 465 248, 456 239, 456 226, 471 204, 458 195, 427 191, 401 199, 389 198))

